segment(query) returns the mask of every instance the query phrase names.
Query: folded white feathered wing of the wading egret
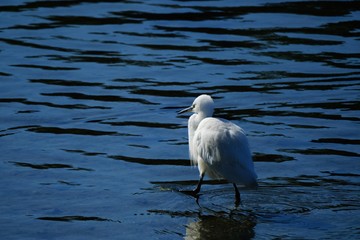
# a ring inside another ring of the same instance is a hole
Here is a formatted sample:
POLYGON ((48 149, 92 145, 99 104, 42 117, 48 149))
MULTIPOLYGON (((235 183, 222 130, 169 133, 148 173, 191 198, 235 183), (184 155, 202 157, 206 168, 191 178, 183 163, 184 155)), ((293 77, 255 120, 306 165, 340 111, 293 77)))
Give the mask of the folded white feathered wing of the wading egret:
POLYGON ((208 166, 210 176, 244 184, 256 179, 248 141, 239 126, 206 118, 199 124, 194 141, 196 154, 208 166))

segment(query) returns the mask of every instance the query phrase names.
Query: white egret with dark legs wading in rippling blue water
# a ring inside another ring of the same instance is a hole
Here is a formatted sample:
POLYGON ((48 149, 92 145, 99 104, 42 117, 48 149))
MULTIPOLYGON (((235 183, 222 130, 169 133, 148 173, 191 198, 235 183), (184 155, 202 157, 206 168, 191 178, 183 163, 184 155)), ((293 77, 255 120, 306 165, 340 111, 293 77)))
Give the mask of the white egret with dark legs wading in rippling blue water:
POLYGON ((228 120, 212 117, 214 101, 209 95, 200 95, 193 104, 178 113, 193 112, 188 121, 189 154, 197 165, 200 180, 193 191, 184 191, 198 198, 205 173, 211 178, 224 178, 233 183, 235 203, 240 203, 236 184, 257 186, 248 140, 242 128, 228 120))

